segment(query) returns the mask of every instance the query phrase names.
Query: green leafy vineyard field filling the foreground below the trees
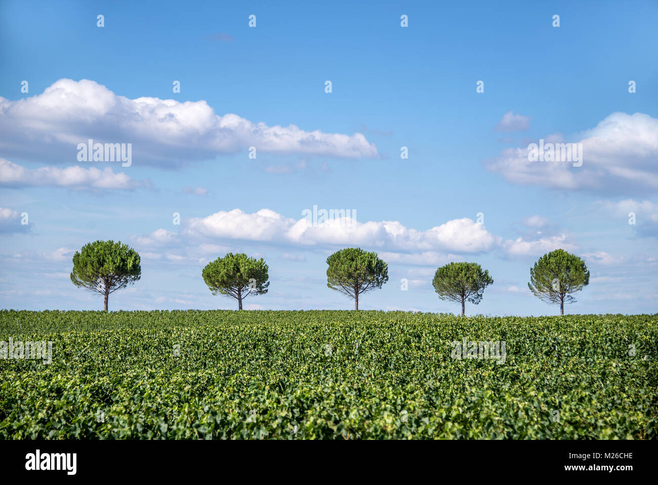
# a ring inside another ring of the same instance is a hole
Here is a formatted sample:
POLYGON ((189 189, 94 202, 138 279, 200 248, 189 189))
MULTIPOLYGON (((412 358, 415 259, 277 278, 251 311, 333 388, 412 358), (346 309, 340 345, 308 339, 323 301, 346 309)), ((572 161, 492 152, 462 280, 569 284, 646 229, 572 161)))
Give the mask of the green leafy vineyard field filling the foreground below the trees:
POLYGON ((0 360, 0 438, 655 439, 657 321, 3 310, 0 341, 53 344, 0 360))

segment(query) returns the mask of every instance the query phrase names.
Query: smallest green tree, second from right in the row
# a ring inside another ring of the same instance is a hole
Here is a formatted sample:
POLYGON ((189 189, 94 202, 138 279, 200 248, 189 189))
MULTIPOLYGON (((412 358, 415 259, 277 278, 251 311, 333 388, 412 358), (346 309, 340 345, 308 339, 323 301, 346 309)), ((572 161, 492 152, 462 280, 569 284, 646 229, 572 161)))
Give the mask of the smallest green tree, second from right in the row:
POLYGON ((477 263, 450 263, 434 273, 432 286, 440 299, 461 303, 464 316, 465 302, 480 303, 484 289, 493 283, 488 270, 477 263))

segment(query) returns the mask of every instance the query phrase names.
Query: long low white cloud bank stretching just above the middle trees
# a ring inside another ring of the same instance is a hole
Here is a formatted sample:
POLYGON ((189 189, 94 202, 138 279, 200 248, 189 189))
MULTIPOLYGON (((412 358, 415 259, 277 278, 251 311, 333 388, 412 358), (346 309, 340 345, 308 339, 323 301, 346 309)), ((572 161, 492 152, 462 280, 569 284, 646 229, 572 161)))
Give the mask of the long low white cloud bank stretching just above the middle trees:
MULTIPOLYGON (((477 254, 497 252, 505 257, 535 257, 557 248, 569 251, 577 248, 566 234, 503 240, 468 218, 452 219, 420 231, 399 221, 359 222, 347 215, 314 224, 306 217, 294 219, 270 209, 251 214, 234 209, 207 217, 191 217, 181 221, 178 233, 158 229, 133 237, 132 241, 149 252, 155 252, 155 248, 186 248, 188 259, 193 260, 205 254, 226 252, 231 245, 242 247, 244 243, 321 251, 360 246, 376 250, 387 262, 409 266, 442 266, 477 254)), ((304 260, 293 252, 285 252, 281 257, 304 260)))

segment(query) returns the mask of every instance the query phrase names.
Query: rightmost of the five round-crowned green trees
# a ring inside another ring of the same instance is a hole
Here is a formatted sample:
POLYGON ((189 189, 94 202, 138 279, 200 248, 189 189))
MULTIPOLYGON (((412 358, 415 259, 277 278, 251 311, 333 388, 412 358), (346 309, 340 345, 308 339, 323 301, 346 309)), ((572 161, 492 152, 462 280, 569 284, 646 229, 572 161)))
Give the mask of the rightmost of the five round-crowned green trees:
POLYGON ((571 293, 590 284, 590 271, 585 262, 563 249, 544 254, 530 268, 528 288, 532 294, 547 303, 560 304, 565 314, 565 303, 574 303, 571 293))

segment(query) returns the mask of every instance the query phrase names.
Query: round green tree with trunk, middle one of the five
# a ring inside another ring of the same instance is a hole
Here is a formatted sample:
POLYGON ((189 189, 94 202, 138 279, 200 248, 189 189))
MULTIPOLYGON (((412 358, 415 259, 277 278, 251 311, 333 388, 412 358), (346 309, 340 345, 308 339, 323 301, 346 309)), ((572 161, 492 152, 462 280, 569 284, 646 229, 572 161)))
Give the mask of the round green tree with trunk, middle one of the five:
POLYGON ((359 295, 388 281, 388 264, 376 252, 341 249, 327 258, 327 264, 327 287, 353 298, 355 310, 359 310, 359 295))

